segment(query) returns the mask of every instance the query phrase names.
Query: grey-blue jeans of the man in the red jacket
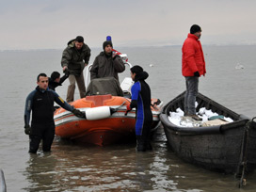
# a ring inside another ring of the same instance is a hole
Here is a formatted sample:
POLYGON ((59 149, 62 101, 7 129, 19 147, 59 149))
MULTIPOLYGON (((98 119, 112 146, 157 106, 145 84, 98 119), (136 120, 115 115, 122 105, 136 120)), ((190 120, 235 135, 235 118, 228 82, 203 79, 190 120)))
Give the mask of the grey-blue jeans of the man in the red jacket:
POLYGON ((184 113, 196 114, 196 98, 199 93, 199 77, 185 76, 184 113))

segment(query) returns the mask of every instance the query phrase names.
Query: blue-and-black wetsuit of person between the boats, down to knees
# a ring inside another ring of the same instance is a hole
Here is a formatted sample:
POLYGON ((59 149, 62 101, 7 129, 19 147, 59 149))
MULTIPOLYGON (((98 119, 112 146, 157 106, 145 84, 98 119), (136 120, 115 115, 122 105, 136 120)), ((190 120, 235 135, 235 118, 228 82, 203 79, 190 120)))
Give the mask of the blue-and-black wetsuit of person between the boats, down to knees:
POLYGON ((151 88, 145 82, 148 72, 136 73, 135 84, 132 87, 131 108, 136 107, 136 136, 142 136, 143 129, 150 129, 152 123, 151 88))

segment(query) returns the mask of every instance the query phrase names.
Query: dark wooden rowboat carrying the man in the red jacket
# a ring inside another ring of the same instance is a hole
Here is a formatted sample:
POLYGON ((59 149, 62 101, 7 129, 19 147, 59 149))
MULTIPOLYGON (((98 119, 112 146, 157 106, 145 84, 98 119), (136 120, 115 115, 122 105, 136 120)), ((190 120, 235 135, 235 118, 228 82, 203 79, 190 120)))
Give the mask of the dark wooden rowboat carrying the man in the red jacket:
MULTIPOLYGON (((184 92, 185 93, 185 92, 184 92)), ((200 168, 244 175, 256 168, 256 123, 248 117, 217 104, 199 94, 197 111, 201 107, 211 109, 233 122, 215 126, 181 127, 168 120, 169 112, 184 110, 184 93, 164 106, 160 120, 164 126, 168 144, 185 162, 200 168)))

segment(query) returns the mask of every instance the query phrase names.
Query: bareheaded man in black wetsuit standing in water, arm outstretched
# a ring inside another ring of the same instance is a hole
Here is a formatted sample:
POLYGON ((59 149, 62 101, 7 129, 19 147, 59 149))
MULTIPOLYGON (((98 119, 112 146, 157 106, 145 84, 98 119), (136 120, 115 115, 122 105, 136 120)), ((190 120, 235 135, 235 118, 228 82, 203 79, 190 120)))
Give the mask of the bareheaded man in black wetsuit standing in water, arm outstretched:
POLYGON ((83 118, 84 113, 64 102, 58 94, 48 88, 48 77, 40 73, 37 78, 38 87, 26 98, 24 107, 24 133, 29 135, 29 152, 37 153, 40 140, 42 151, 50 152, 55 137, 54 102, 65 108, 78 118, 83 118), (32 110, 31 127, 29 125, 32 110))

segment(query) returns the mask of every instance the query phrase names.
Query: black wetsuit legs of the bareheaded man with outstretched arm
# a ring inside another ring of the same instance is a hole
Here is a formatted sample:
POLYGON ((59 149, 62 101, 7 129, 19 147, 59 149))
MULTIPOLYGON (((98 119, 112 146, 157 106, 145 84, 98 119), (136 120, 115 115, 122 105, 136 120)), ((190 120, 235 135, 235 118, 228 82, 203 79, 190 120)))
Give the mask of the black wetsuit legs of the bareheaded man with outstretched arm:
POLYGON ((37 153, 42 140, 42 151, 50 152, 55 138, 55 123, 32 124, 32 133, 29 136, 29 152, 37 153))

